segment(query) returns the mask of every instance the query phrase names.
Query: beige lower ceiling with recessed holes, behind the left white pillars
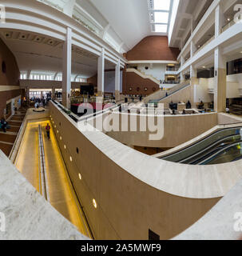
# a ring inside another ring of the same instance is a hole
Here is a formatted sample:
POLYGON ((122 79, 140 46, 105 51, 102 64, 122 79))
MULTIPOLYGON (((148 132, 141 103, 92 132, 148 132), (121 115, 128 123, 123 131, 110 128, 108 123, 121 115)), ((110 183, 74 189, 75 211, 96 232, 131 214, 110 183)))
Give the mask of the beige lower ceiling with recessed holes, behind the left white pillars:
MULTIPOLYGON (((26 33, 20 30, 0 30, 0 38, 14 54, 21 72, 62 72, 61 42, 53 38, 46 38, 39 34, 26 33)), ((72 74, 82 78, 89 78, 97 74, 97 56, 73 47, 72 74)), ((114 66, 105 62, 106 69, 114 66)))

